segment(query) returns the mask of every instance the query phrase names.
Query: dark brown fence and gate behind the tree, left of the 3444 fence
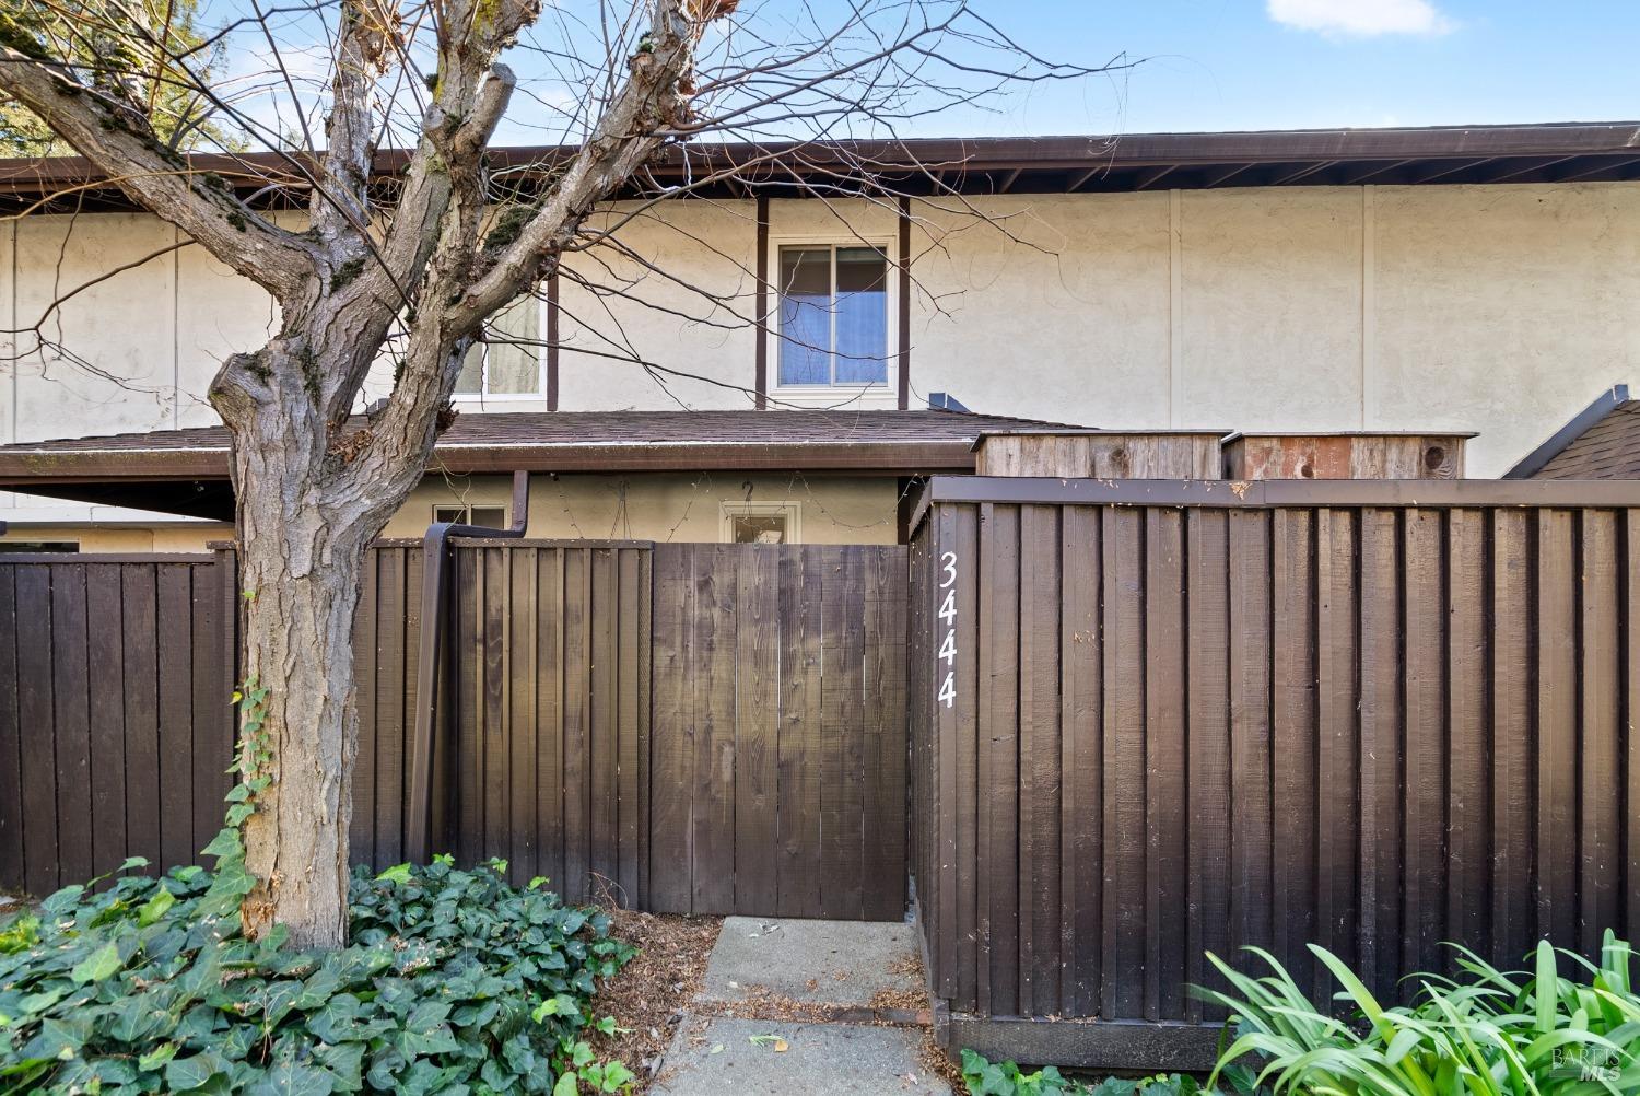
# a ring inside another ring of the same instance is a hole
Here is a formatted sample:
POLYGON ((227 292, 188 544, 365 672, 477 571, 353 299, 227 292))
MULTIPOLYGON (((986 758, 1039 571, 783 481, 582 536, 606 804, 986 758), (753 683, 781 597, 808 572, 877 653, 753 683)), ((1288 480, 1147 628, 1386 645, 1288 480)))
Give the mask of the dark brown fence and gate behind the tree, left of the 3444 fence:
MULTIPOLYGON (((405 858, 421 568, 382 541, 361 586, 351 847, 377 868, 405 858)), ((900 916, 904 546, 456 541, 453 568, 435 848, 576 901, 900 916)), ((233 574, 0 558, 0 888, 216 832, 233 574)))

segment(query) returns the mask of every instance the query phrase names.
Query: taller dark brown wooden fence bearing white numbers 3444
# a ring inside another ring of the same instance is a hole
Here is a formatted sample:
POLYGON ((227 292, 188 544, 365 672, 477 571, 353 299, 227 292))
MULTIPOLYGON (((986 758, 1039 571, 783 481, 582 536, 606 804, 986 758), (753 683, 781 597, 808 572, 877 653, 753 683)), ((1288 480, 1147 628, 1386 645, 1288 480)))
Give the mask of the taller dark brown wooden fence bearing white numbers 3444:
POLYGON ((1640 491, 1240 487, 923 500, 913 873, 964 1045, 1166 1060, 999 1021, 1212 1021, 1209 950, 1394 996, 1445 940, 1640 937, 1640 491))

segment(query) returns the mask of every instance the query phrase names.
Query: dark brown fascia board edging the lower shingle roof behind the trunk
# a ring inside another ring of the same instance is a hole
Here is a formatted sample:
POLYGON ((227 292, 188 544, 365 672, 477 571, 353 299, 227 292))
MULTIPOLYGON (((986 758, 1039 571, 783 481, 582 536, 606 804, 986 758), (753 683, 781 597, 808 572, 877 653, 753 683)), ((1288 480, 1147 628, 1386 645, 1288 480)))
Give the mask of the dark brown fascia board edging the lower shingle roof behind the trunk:
MULTIPOLYGON (((910 476, 973 471, 964 438, 941 441, 835 443, 622 443, 449 445, 433 464, 456 476, 531 473, 663 473, 702 468, 745 471, 843 471, 910 476)), ((28 491, 43 479, 226 479, 228 450, 28 450, 0 453, 0 486, 28 491)))

